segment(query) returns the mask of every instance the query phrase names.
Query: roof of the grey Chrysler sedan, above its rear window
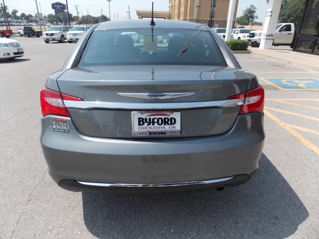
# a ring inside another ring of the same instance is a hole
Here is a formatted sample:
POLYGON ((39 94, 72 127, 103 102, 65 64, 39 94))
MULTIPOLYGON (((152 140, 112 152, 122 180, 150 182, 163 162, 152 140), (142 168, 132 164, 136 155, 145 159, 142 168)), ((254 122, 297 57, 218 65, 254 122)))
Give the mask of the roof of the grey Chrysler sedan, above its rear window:
MULTIPOLYGON (((210 28, 200 23, 181 21, 181 20, 166 20, 166 19, 155 19, 154 28, 179 28, 179 29, 198 29, 209 31, 210 28)), ((119 20, 119 21, 105 21, 100 23, 95 30, 103 29, 116 29, 116 28, 151 28, 151 18, 144 19, 130 19, 130 20, 119 20)))

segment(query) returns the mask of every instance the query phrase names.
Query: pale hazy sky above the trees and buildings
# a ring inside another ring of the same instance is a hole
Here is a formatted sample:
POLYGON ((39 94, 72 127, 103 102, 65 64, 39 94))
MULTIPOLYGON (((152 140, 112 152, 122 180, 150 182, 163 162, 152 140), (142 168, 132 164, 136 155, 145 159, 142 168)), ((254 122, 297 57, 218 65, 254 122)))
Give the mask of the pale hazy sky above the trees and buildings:
MULTIPOLYGON (((54 14, 54 10, 51 9, 51 3, 56 1, 66 3, 66 0, 37 0, 38 6, 41 6, 42 14, 54 14)), ((169 0, 153 1, 154 10, 168 10, 169 0)), ((4 0, 4 2, 8 6, 9 11, 17 9, 18 14, 24 12, 26 14, 30 13, 34 15, 36 12, 35 0, 4 0)), ((254 4, 257 7, 257 15, 259 16, 257 21, 264 21, 266 10, 268 8, 266 0, 239 0, 237 16, 240 16, 242 11, 250 4, 254 4)), ((90 15, 98 16, 101 15, 101 9, 104 15, 109 15, 109 4, 107 0, 68 0, 68 5, 69 12, 73 15, 76 15, 75 5, 78 5, 80 16, 82 14, 86 15, 87 12, 89 12, 90 15)), ((119 14, 119 19, 125 19, 127 16, 128 5, 130 5, 131 17, 137 18, 136 10, 151 10, 152 0, 112 0, 110 2, 112 19, 114 19, 114 14, 117 19, 117 13, 119 14)))

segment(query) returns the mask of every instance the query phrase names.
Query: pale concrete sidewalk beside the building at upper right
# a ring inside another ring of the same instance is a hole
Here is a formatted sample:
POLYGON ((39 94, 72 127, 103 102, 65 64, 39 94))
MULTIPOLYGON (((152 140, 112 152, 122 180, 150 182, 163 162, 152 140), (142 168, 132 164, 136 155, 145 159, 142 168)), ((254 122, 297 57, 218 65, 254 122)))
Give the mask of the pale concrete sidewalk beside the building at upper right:
POLYGON ((319 71, 319 55, 301 53, 284 47, 273 47, 272 49, 267 50, 255 47, 250 47, 249 49, 251 50, 252 54, 260 54, 275 60, 283 61, 285 63, 303 66, 311 70, 319 71))

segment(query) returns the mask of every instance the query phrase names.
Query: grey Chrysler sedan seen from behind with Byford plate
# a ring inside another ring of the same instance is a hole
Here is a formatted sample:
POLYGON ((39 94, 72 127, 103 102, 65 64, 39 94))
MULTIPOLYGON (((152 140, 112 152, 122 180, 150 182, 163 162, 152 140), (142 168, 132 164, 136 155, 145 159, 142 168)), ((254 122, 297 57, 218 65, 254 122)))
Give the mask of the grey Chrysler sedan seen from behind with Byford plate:
POLYGON ((223 188, 246 182, 258 168, 265 134, 257 78, 207 26, 155 23, 91 27, 47 79, 41 145, 60 187, 223 188), (132 32, 143 41, 134 42, 132 32))

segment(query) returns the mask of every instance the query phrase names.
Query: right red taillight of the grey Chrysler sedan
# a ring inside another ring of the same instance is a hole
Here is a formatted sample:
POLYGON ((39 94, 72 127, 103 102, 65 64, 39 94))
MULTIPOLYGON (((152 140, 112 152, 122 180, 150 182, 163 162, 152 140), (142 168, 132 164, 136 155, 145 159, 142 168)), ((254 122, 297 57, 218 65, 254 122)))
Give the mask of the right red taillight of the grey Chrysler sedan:
POLYGON ((241 93, 235 96, 231 96, 228 100, 233 99, 245 99, 244 105, 242 105, 239 115, 247 114, 251 112, 263 113, 264 111, 264 101, 265 92, 264 89, 259 85, 257 88, 247 91, 246 93, 241 93))

